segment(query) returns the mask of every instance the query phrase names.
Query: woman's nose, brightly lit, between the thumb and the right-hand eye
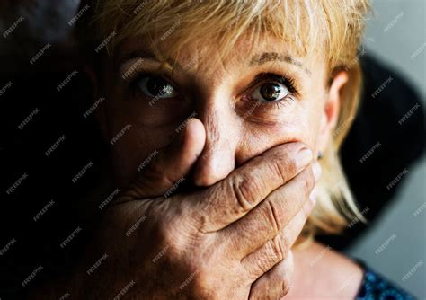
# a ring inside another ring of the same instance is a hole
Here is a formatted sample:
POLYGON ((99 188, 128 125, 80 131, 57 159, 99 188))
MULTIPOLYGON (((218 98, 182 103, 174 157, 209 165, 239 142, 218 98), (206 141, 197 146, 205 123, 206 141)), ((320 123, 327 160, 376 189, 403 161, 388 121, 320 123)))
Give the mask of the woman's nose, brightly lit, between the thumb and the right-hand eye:
POLYGON ((206 144, 194 169, 197 186, 212 185, 226 178, 235 168, 235 149, 240 135, 230 105, 228 100, 217 95, 201 103, 197 109, 206 130, 206 144))

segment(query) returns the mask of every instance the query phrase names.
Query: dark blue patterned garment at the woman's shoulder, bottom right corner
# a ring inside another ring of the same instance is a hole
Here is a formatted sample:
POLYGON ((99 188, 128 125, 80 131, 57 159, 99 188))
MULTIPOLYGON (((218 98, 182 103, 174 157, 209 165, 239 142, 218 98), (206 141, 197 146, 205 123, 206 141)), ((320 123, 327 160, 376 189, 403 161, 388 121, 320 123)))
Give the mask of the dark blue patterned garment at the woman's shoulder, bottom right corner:
POLYGON ((364 269, 364 278, 359 288, 357 300, 411 300, 414 296, 403 289, 395 287, 386 278, 369 269, 362 261, 359 261, 364 269))

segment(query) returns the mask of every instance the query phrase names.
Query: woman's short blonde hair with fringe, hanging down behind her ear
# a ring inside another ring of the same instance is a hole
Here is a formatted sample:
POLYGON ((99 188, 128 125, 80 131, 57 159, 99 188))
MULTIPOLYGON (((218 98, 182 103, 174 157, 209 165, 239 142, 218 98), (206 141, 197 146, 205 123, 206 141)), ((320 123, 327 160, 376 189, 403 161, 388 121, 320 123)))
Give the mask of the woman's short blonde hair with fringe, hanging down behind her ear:
POLYGON ((250 39, 251 45, 268 33, 290 41, 303 56, 324 49, 330 78, 345 69, 350 79, 342 90, 333 143, 320 161, 323 176, 318 182, 317 204, 303 235, 337 234, 351 218, 362 219, 342 172, 338 150, 359 104, 357 50, 369 12, 368 0, 103 0, 96 2, 94 12, 94 34, 90 36, 87 28, 82 31, 84 40, 91 40, 91 53, 93 45, 111 34, 107 54, 113 55, 121 42, 138 36, 159 59, 178 57, 188 45, 206 40, 215 41, 217 57, 222 59, 245 32, 250 33, 244 38, 250 39), (164 43, 173 47, 160 51, 164 43))

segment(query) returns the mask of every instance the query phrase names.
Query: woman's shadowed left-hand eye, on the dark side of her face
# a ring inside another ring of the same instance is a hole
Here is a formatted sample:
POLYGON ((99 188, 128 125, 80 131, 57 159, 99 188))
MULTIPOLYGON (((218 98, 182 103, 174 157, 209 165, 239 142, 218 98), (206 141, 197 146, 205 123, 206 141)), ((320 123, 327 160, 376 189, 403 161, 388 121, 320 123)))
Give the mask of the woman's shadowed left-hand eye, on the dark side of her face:
POLYGON ((173 98, 177 92, 172 84, 159 76, 143 75, 136 84, 140 91, 149 98, 173 98))

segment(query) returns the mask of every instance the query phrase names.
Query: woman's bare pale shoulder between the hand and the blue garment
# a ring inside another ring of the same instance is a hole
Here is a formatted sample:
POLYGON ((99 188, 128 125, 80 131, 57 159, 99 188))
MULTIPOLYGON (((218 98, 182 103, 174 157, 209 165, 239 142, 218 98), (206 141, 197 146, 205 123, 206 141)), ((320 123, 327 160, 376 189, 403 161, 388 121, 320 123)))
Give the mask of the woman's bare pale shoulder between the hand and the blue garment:
POLYGON ((364 270, 357 262, 320 243, 293 253, 295 270, 286 298, 354 299, 358 295, 364 270))

